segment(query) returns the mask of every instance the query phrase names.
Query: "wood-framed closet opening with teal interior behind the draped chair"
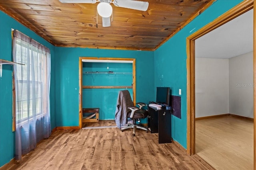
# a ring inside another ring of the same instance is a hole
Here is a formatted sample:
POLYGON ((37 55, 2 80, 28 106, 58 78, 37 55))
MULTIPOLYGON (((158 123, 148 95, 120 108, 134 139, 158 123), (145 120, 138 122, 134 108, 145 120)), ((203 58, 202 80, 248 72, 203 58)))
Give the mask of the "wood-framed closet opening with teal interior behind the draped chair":
POLYGON ((83 122, 114 119, 116 99, 120 90, 129 90, 136 104, 135 59, 79 58, 79 128, 83 122), (85 120, 85 109, 99 113, 85 120))

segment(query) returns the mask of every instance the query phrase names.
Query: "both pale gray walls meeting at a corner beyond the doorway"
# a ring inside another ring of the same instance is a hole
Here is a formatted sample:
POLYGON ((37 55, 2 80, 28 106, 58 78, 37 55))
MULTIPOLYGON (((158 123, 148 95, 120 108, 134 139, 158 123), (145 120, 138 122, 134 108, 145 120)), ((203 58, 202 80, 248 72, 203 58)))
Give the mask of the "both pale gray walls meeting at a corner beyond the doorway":
POLYGON ((253 52, 231 59, 196 58, 196 117, 253 118, 253 52))

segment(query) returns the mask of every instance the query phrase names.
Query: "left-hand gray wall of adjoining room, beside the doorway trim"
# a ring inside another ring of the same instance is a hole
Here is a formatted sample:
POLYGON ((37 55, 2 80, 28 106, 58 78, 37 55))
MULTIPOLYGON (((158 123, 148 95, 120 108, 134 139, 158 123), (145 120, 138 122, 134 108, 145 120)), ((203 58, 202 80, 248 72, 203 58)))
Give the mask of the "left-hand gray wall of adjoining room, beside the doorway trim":
POLYGON ((228 59, 196 58, 196 117, 228 113, 228 59))

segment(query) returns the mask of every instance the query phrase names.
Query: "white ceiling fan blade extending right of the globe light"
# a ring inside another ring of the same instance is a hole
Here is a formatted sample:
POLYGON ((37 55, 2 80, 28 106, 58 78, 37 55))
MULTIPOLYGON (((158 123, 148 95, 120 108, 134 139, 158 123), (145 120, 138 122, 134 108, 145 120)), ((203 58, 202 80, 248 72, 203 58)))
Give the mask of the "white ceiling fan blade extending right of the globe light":
POLYGON ((123 8, 130 8, 133 10, 140 10, 146 11, 148 9, 148 2, 144 1, 137 1, 137 0, 114 0, 114 5, 123 7, 123 8))

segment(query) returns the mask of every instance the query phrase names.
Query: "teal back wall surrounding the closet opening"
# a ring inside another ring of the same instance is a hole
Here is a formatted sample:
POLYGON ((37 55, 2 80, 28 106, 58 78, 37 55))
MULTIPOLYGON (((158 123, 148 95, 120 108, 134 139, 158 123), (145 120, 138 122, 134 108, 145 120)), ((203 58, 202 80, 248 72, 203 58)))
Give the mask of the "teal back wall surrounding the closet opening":
MULTIPOLYGON (((56 47, 56 59, 58 59, 56 61, 56 117, 58 117, 56 126, 78 126, 79 57, 135 58, 136 102, 148 103, 154 100, 154 93, 152 93, 154 91, 153 51, 56 47)), ((98 90, 97 94, 100 94, 100 92, 98 90)), ((104 100, 113 109, 116 107, 117 93, 111 93, 111 95, 106 95, 111 98, 111 101, 107 101, 108 98, 104 100), (113 102, 114 106, 112 106, 113 102)))

